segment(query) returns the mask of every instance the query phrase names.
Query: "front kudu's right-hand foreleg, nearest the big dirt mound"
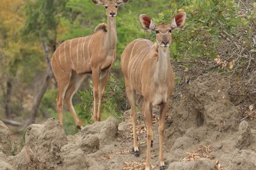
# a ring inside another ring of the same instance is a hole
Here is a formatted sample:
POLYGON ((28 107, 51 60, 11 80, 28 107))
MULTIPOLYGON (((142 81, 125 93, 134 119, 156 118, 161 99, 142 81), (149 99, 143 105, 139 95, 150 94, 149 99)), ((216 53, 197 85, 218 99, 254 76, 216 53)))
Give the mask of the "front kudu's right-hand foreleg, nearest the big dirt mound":
POLYGON ((168 108, 168 101, 167 103, 164 103, 160 105, 160 113, 159 113, 159 127, 158 127, 158 133, 159 133, 159 164, 160 164, 160 170, 164 170, 164 158, 163 158, 163 142, 164 142, 164 126, 166 124, 166 113, 168 108))

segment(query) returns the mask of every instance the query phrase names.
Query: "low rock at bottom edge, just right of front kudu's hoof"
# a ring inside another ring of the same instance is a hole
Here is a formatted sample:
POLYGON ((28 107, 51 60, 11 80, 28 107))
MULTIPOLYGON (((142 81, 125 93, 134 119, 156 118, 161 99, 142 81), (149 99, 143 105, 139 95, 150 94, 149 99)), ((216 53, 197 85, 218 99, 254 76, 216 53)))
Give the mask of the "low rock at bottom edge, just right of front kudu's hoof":
POLYGON ((199 161, 173 162, 169 165, 170 170, 217 170, 213 160, 202 158, 199 161))

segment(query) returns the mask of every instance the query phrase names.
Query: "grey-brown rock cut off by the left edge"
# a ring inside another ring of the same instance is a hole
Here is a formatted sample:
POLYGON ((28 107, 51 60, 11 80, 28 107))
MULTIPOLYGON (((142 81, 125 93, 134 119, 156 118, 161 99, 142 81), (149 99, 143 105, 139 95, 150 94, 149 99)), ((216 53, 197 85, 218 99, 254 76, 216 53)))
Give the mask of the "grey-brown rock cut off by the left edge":
POLYGON ((0 152, 5 155, 11 154, 10 130, 0 121, 0 152))

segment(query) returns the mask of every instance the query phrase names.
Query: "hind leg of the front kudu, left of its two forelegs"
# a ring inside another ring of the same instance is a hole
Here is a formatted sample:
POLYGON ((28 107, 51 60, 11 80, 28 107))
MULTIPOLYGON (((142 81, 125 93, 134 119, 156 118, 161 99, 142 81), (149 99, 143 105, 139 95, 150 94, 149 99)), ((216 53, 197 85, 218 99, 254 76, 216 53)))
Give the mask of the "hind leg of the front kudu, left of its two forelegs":
POLYGON ((125 80, 126 94, 131 107, 131 122, 133 124, 133 146, 134 155, 139 157, 139 147, 136 133, 136 111, 135 111, 135 90, 130 86, 129 81, 125 80))

